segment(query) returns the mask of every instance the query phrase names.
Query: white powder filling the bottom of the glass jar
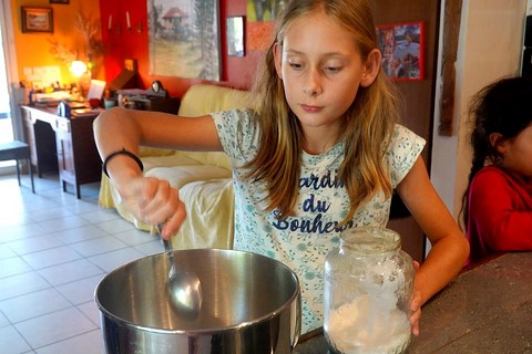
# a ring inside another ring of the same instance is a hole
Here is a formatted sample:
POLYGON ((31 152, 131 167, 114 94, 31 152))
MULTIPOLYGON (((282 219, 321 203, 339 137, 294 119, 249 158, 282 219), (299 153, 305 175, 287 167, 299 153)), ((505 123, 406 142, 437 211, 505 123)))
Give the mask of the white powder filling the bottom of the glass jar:
POLYGON ((360 295, 331 310, 325 323, 330 344, 344 354, 396 353, 410 341, 410 322, 387 301, 371 301, 360 295))

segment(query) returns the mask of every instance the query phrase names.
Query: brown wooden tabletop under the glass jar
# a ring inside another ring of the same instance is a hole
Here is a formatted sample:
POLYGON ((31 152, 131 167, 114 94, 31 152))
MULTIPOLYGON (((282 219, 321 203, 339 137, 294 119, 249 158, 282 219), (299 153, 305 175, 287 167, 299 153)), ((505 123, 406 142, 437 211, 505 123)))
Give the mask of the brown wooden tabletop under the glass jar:
MULTIPOLYGON (((507 253, 466 269, 422 309, 415 353, 532 353, 532 252, 507 253)), ((328 353, 320 331, 297 354, 328 353)))

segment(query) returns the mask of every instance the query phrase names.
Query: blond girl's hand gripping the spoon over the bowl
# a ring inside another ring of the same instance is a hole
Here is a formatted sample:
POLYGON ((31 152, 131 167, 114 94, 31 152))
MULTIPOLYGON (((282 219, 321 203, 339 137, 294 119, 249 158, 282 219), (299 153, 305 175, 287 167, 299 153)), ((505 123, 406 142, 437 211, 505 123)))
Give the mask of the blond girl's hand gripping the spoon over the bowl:
POLYGON ((126 208, 140 220, 157 226, 164 223, 161 237, 170 239, 185 218, 185 206, 177 189, 167 180, 154 177, 133 177, 119 186, 126 208))

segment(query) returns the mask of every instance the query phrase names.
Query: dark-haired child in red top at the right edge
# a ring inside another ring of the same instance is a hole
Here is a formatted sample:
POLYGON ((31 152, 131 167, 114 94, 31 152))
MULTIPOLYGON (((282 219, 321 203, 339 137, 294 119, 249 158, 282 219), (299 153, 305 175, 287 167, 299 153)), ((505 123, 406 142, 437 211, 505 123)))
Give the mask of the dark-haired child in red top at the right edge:
POLYGON ((530 77, 507 77, 471 102, 473 159, 462 204, 471 261, 532 250, 531 95, 530 77))

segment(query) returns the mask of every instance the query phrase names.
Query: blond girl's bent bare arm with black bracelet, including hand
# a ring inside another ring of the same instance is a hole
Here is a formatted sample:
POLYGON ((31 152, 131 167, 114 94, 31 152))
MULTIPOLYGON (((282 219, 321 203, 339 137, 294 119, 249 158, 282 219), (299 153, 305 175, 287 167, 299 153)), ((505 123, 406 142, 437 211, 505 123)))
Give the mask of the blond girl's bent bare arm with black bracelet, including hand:
MULTIPOLYGON (((140 145, 222 150, 209 115, 185 118, 116 107, 105 111, 94 121, 94 137, 102 160, 121 149, 137 155, 140 145)), ((116 155, 109 160, 106 168, 125 206, 135 217, 151 225, 166 222, 164 238, 178 230, 185 209, 177 190, 167 181, 143 177, 139 165, 126 155, 116 155)))

